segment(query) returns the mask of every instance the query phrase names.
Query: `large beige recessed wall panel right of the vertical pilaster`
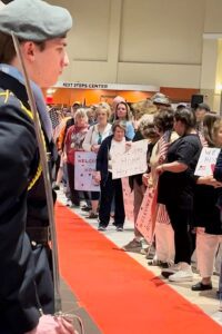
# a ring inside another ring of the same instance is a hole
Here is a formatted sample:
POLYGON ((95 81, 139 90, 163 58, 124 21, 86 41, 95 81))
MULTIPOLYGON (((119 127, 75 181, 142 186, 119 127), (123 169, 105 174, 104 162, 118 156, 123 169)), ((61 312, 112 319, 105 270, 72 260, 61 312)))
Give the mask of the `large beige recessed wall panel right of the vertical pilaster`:
POLYGON ((200 63, 204 0, 123 0, 120 61, 200 63))

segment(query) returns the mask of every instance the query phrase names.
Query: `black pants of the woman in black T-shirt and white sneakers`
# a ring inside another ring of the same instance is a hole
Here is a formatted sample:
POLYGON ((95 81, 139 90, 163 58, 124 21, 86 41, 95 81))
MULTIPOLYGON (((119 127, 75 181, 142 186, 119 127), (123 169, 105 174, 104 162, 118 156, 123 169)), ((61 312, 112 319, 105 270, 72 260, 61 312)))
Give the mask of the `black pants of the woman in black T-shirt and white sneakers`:
POLYGON ((182 209, 174 205, 167 204, 167 210, 174 230, 175 259, 174 263, 185 262, 191 264, 192 240, 190 226, 192 223, 192 212, 182 209))

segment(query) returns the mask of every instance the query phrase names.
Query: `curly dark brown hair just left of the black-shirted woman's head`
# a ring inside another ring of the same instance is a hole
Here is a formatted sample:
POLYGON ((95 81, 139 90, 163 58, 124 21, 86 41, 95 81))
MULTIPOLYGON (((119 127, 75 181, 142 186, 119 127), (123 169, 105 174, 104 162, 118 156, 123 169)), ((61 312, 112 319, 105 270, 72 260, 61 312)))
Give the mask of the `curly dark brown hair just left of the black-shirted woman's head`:
POLYGON ((161 109, 153 119, 154 126, 159 129, 159 131, 165 132, 168 130, 172 130, 173 128, 173 109, 161 109))

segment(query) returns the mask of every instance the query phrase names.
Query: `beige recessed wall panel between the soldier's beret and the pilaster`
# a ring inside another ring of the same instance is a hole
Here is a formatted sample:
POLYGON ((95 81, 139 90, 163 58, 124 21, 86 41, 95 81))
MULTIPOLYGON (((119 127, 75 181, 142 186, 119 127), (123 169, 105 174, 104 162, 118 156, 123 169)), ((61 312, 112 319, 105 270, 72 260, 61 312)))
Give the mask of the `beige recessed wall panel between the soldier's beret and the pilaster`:
MULTIPOLYGON (((68 8, 74 20, 69 33, 72 60, 107 60, 111 0, 51 0, 68 8)), ((69 47, 70 50, 70 47, 69 47)))

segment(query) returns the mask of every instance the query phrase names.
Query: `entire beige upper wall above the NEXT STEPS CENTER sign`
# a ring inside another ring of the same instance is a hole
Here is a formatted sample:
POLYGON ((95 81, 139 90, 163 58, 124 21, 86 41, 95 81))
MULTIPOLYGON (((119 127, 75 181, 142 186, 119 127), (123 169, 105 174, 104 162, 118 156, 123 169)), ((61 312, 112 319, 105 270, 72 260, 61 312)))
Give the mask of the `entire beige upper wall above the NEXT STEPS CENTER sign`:
POLYGON ((222 0, 48 2, 74 18, 61 80, 213 88, 218 55, 202 35, 222 33, 222 0))

